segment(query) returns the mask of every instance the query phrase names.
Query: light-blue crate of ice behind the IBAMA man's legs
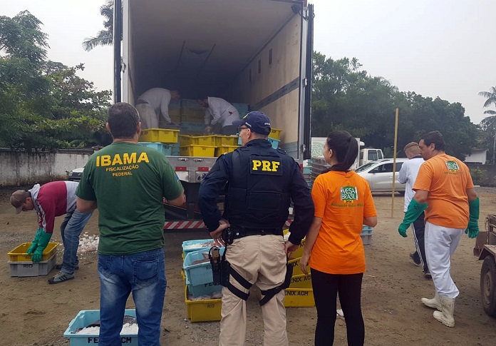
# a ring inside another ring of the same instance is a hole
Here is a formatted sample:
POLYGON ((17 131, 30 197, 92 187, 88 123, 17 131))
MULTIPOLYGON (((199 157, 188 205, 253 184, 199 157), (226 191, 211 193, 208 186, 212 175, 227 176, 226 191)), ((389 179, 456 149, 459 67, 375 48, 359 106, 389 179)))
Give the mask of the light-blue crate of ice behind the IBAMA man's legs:
MULTIPOLYGON (((126 309, 120 341, 125 346, 138 346, 138 322, 136 310, 126 309)), ((71 346, 98 345, 100 334, 100 310, 81 310, 69 323, 63 333, 68 337, 71 346)))

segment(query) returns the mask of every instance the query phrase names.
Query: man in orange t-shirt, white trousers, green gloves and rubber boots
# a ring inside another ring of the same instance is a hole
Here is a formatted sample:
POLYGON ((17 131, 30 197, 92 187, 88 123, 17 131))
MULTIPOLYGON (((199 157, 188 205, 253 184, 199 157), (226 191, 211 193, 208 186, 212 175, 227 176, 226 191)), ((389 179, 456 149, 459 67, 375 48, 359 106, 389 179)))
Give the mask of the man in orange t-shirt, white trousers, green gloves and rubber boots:
POLYGON ((450 275, 450 257, 464 231, 470 238, 479 233, 479 198, 465 163, 446 155, 439 131, 425 134, 418 146, 425 162, 418 170, 415 195, 398 231, 404 233, 425 210, 425 257, 435 294, 422 302, 438 310, 433 313, 436 320, 454 327, 455 298, 460 291, 450 275))

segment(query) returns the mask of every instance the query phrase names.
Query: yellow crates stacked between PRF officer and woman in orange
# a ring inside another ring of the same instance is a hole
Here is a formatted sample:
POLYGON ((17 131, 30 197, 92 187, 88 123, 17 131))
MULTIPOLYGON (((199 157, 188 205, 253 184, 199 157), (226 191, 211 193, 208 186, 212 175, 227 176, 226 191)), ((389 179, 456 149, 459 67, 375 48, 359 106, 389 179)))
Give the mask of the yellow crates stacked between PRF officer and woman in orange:
MULTIPOLYGON (((288 230, 284 230, 284 236, 288 230)), ((293 275, 291 276, 291 284, 284 291, 284 306, 285 307, 313 307, 315 306, 314 290, 311 288, 311 273, 310 268, 306 267, 308 274, 301 271, 300 260, 303 255, 305 239, 301 240, 298 250, 291 253, 292 260, 289 264, 293 267, 293 275)))

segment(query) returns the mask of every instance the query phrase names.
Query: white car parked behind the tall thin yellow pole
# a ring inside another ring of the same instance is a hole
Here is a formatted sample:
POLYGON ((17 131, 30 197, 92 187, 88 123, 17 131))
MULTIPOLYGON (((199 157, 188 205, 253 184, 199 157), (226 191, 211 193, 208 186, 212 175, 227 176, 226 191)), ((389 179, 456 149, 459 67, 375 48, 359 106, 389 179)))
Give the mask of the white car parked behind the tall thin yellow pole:
MULTIPOLYGON (((405 194, 405 184, 398 181, 398 172, 403 162, 408 158, 396 159, 396 173, 394 190, 402 195, 405 194)), ((384 158, 383 160, 366 163, 356 168, 356 173, 368 181, 372 192, 391 192, 393 190, 393 159, 384 158)))

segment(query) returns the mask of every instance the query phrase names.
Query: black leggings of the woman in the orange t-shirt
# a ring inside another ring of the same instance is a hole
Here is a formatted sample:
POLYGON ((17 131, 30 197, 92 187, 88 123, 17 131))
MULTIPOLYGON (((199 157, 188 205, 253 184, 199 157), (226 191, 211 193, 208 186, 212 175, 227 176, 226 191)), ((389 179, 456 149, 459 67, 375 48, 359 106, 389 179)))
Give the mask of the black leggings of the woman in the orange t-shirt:
POLYGON ((363 346, 365 325, 361 314, 361 283, 363 273, 339 275, 311 270, 311 284, 314 288, 317 308, 315 346, 331 346, 334 343, 336 324, 336 298, 346 321, 348 346, 363 346))

